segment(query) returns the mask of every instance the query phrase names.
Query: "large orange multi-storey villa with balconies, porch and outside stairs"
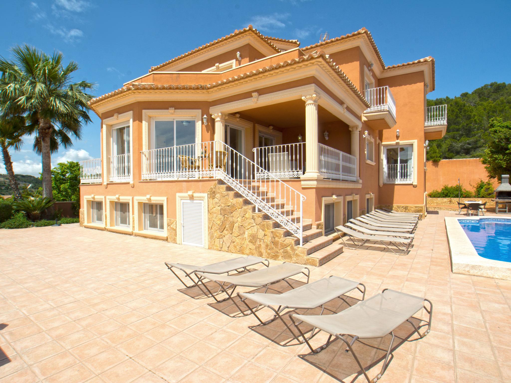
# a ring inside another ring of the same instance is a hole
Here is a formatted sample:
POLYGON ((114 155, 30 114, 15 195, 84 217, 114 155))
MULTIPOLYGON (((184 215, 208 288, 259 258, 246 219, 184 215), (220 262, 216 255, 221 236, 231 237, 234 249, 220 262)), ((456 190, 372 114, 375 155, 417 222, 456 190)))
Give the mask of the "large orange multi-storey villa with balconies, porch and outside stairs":
POLYGON ((378 206, 426 214, 435 61, 385 65, 365 28, 300 47, 248 26, 95 98, 80 223, 320 266, 378 206))

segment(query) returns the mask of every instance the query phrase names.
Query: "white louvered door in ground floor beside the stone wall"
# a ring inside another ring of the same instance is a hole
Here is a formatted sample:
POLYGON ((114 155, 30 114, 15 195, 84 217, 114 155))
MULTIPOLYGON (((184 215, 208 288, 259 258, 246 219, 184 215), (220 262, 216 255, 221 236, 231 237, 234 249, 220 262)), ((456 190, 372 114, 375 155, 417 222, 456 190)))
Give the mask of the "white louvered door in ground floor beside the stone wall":
POLYGON ((183 245, 204 247, 204 201, 181 200, 183 245))

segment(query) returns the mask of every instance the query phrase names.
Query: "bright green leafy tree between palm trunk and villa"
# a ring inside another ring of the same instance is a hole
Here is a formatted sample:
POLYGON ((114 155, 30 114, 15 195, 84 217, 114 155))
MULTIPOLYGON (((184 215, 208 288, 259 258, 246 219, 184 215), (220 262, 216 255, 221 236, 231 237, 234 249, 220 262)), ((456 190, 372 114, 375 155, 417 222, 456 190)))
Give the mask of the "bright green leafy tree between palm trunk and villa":
POLYGON ((80 201, 80 164, 75 161, 60 162, 52 169, 53 199, 73 201, 76 209, 80 201))

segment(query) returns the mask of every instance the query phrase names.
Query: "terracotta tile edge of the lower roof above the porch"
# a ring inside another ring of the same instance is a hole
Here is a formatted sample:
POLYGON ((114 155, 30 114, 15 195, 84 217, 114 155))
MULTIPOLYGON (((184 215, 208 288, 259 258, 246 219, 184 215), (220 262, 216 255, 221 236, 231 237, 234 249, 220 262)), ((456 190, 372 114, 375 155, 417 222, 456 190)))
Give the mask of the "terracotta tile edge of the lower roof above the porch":
POLYGON ((311 60, 314 60, 314 59, 323 59, 335 71, 335 73, 341 78, 341 80, 350 89, 352 89, 352 91, 356 94, 356 96, 360 99, 360 101, 364 105, 369 106, 369 104, 367 103, 367 101, 363 97, 362 93, 360 93, 360 91, 357 89, 357 87, 351 82, 351 80, 349 78, 347 78, 347 76, 339 68, 339 66, 335 65, 333 60, 328 59, 327 55, 324 52, 322 52, 322 51, 317 52, 317 53, 311 53, 311 54, 306 55, 306 56, 301 56, 301 57, 299 57, 297 59, 287 60, 287 61, 284 61, 284 62, 281 62, 281 63, 278 63, 278 64, 273 64, 273 65, 265 66, 263 68, 251 70, 250 72, 243 73, 243 74, 238 75, 238 76, 233 76, 233 77, 230 77, 230 78, 227 78, 227 79, 224 79, 224 80, 221 80, 221 81, 217 81, 217 82, 214 82, 214 83, 211 83, 211 84, 194 84, 194 85, 168 84, 168 85, 155 85, 153 83, 129 83, 126 86, 123 86, 122 88, 119 88, 117 90, 114 90, 112 92, 106 93, 106 94, 104 94, 104 95, 102 95, 100 97, 96 97, 96 98, 90 100, 89 105, 94 105, 94 104, 96 104, 96 103, 98 103, 100 101, 103 101, 103 100, 109 99, 111 97, 114 97, 115 95, 119 95, 119 94, 122 94, 122 93, 125 93, 125 92, 129 92, 129 91, 135 91, 135 90, 171 90, 171 89, 174 89, 174 90, 207 90, 207 89, 212 89, 212 88, 224 85, 224 84, 233 83, 233 82, 236 82, 236 81, 240 81, 242 79, 246 79, 246 78, 250 78, 250 77, 253 77, 253 76, 257 76, 257 75, 260 75, 262 73, 266 73, 266 72, 269 72, 269 71, 272 71, 272 70, 275 70, 275 69, 278 69, 278 68, 282 68, 282 67, 286 67, 286 66, 290 66, 290 65, 295 65, 295 64, 298 64, 298 63, 301 63, 301 62, 311 61, 311 60))

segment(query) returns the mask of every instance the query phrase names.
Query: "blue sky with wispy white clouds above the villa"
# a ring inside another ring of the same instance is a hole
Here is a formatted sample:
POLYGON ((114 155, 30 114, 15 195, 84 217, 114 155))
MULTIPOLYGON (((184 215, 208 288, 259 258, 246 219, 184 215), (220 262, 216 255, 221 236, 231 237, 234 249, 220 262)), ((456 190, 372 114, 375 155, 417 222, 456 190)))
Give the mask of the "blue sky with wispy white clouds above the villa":
MULTIPOLYGON (((325 31, 332 38, 366 27, 386 65, 435 58, 436 90, 429 98, 511 82, 509 1, 4 0, 0 13, 9 15, 0 23, 0 55, 9 57, 10 47, 22 43, 58 50, 79 63, 77 81, 97 83, 95 95, 248 24, 269 36, 297 38, 301 46, 318 42, 325 31)), ((52 163, 100 156, 100 119, 91 117, 82 140, 53 155, 52 163)), ((12 153, 14 170, 37 175, 40 158, 26 141, 12 153)))

